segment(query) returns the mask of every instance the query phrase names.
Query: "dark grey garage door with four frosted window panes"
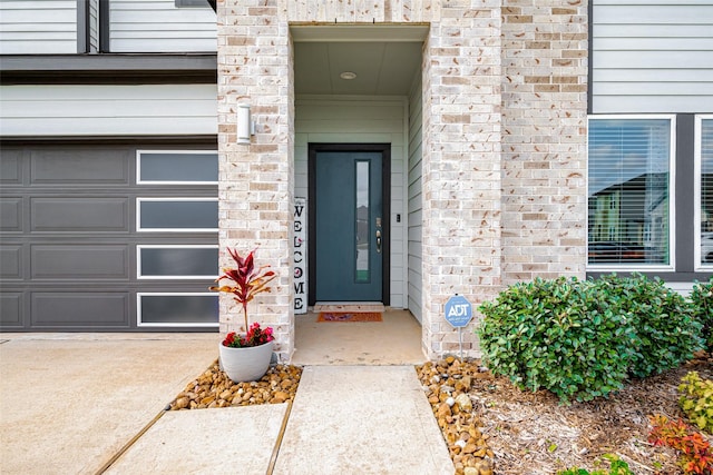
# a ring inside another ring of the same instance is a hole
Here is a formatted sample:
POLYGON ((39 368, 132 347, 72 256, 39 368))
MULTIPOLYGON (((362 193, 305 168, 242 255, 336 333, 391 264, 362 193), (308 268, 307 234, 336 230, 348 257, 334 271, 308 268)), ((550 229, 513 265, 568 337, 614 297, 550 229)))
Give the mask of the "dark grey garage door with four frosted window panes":
POLYGON ((2 330, 216 330, 217 154, 3 145, 2 330))

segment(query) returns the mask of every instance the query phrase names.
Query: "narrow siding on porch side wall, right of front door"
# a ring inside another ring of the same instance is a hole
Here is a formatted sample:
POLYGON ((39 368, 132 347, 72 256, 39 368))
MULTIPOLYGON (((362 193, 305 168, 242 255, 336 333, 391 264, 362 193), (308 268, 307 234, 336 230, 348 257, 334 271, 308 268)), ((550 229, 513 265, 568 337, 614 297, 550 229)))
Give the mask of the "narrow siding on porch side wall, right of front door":
POLYGON ((409 310, 421 321, 422 297, 422 254, 421 235, 423 218, 421 209, 421 125, 422 125, 421 81, 417 81, 409 97, 409 310))

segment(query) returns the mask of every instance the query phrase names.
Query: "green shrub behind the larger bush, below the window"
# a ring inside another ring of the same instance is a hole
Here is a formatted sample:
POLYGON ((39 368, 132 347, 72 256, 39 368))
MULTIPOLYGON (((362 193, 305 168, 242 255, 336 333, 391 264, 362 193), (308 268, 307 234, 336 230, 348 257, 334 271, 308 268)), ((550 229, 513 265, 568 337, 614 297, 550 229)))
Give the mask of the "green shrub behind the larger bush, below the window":
POLYGON ((675 368, 703 347, 701 324, 691 305, 664 283, 641 274, 632 277, 605 276, 596 285, 606 296, 612 311, 627 315, 637 338, 629 373, 647 377, 675 368))

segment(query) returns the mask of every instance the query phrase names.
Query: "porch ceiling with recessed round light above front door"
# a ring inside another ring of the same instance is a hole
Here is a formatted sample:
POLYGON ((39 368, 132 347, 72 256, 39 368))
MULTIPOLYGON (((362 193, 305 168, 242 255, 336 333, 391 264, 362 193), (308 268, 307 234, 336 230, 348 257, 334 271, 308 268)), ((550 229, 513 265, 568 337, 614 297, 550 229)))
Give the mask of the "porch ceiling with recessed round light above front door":
POLYGON ((421 46, 417 41, 295 42, 295 93, 408 95, 421 69, 421 46), (356 77, 341 79, 345 71, 356 77))

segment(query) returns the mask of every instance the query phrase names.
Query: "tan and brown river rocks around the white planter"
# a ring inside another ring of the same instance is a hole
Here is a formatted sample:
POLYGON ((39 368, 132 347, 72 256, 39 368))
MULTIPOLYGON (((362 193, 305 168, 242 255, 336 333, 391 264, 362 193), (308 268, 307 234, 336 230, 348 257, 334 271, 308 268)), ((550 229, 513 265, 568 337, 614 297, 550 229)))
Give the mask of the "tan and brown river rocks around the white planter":
POLYGON ((186 385, 170 403, 170 410, 204 409, 228 406, 280 404, 293 400, 302 376, 302 368, 275 365, 260 380, 233 383, 216 360, 196 379, 186 385))

